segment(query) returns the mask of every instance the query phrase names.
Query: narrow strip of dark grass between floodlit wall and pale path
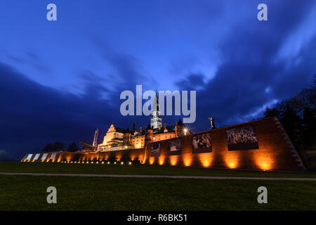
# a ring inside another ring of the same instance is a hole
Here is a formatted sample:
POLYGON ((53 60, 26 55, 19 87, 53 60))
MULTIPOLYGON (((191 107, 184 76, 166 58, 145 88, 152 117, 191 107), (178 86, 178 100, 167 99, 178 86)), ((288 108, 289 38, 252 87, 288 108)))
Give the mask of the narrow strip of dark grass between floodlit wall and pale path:
POLYGON ((32 172, 63 174, 138 174, 183 176, 257 176, 257 177, 316 177, 316 173, 260 172, 236 169, 170 167, 154 165, 102 165, 42 162, 0 162, 0 172, 32 172))

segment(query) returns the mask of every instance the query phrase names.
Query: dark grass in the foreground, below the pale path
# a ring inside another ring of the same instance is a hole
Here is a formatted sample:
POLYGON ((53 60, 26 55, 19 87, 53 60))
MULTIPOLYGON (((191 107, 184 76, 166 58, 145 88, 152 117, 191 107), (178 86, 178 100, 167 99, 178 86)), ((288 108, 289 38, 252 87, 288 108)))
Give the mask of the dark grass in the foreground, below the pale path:
POLYGON ((316 210, 316 181, 0 175, 0 210, 316 210), (57 188, 57 204, 46 188, 57 188), (258 204, 257 188, 268 188, 258 204))

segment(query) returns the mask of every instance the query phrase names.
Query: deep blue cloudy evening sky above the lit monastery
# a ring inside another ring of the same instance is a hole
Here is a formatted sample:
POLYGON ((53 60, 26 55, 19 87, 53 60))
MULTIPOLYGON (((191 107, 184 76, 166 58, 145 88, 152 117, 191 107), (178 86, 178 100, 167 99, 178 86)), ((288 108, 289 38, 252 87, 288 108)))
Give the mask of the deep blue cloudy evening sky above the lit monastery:
MULTIPOLYGON (((0 150, 126 128, 119 94, 136 84, 197 90, 194 131, 262 117, 316 73, 316 1, 0 1, 0 150), (58 21, 46 20, 46 6, 58 21), (268 21, 258 21, 258 4, 268 21)), ((174 124, 178 117, 163 117, 174 124)))

